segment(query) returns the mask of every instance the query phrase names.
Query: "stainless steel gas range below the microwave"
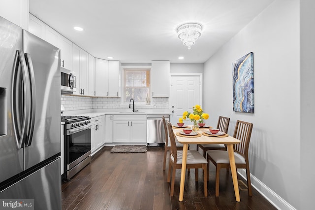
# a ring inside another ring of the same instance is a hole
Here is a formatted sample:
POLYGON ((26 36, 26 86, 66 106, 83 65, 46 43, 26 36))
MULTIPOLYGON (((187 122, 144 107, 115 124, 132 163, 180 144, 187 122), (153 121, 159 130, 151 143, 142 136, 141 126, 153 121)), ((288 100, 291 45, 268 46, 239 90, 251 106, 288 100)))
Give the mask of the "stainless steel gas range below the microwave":
POLYGON ((64 126, 64 174, 70 179, 91 162, 91 118, 62 116, 64 126))

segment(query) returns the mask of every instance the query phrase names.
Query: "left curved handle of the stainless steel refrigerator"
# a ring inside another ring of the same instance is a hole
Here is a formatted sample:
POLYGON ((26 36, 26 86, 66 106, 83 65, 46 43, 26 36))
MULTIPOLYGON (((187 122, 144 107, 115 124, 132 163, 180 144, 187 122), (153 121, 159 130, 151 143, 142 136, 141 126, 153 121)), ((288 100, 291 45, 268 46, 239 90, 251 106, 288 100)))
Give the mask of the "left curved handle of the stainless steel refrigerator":
POLYGON ((31 91, 29 85, 30 77, 26 67, 24 53, 21 50, 17 50, 15 54, 12 79, 11 108, 13 130, 17 148, 21 149, 24 145, 25 139, 27 138, 31 113, 31 102, 28 97, 31 91), (21 69, 19 66, 21 66, 21 69))

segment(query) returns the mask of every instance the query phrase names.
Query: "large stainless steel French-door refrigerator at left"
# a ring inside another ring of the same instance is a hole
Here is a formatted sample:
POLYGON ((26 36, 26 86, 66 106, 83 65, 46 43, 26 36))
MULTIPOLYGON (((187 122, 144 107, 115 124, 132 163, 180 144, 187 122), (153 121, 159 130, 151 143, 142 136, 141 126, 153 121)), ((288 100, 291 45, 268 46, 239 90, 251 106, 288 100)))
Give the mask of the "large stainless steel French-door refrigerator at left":
POLYGON ((0 199, 35 210, 61 209, 60 66, 59 48, 0 17, 0 199))

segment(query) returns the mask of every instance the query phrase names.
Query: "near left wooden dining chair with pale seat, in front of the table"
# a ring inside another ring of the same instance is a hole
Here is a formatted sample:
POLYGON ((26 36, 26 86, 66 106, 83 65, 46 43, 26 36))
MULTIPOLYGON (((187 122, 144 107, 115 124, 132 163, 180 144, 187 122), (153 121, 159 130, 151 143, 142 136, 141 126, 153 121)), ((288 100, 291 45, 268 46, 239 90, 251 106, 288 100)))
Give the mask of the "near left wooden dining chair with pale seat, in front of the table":
MULTIPOLYGON (((183 160, 183 151, 178 151, 177 146, 175 143, 175 136, 172 129, 172 124, 167 122, 169 137, 171 141, 171 156, 169 159, 169 167, 168 167, 168 175, 167 175, 167 182, 170 182, 171 179, 171 171, 172 171, 172 182, 171 182, 171 189, 170 194, 171 197, 174 195, 174 186, 175 186, 175 172, 176 169, 182 169, 182 160, 183 160), (172 168, 172 169, 171 169, 172 168)), ((195 169, 195 181, 198 181, 198 169, 203 170, 203 182, 204 182, 204 195, 205 197, 208 196, 208 189, 207 189, 207 160, 196 150, 188 150, 187 151, 187 162, 186 168, 187 169, 195 169)))

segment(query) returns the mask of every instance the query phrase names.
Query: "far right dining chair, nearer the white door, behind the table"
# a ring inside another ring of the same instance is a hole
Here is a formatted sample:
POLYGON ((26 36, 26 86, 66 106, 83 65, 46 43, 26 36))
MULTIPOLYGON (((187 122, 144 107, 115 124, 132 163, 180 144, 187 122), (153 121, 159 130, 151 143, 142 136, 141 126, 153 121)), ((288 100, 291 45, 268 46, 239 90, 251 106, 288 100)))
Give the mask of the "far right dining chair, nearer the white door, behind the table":
MULTIPOLYGON (((220 129, 220 131, 227 134, 229 124, 230 124, 230 118, 219 116, 217 128, 220 129)), ((202 149, 203 156, 205 158, 206 158, 206 152, 208 150, 226 150, 225 144, 197 144, 197 151, 199 147, 202 149)))

